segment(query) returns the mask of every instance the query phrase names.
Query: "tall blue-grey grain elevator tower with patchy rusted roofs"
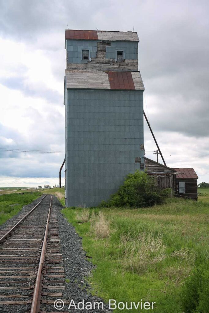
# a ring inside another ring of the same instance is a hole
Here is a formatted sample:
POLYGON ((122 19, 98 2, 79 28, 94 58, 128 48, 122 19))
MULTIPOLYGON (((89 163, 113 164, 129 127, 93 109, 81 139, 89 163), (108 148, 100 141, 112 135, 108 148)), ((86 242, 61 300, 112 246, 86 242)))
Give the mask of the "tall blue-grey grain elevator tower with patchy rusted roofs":
POLYGON ((65 198, 96 206, 144 171, 136 32, 66 30, 65 198))

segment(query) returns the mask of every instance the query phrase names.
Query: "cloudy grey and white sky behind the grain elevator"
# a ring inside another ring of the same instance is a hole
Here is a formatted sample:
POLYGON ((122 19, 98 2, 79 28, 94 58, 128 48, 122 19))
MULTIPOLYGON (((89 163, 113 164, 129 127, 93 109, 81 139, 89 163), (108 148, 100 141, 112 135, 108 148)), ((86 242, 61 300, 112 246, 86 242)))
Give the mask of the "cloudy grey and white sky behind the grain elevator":
POLYGON ((209 182, 208 8, 206 0, 0 0, 0 186, 58 183, 67 25, 138 32, 144 110, 165 161, 209 182))

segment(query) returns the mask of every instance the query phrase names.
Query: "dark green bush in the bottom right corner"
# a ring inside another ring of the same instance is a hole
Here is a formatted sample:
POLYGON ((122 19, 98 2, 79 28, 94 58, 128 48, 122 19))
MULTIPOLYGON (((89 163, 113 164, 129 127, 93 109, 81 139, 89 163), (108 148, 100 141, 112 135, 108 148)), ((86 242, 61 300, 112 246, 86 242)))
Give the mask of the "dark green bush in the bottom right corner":
POLYGON ((200 267, 186 281, 181 301, 185 313, 209 312, 209 269, 200 267))

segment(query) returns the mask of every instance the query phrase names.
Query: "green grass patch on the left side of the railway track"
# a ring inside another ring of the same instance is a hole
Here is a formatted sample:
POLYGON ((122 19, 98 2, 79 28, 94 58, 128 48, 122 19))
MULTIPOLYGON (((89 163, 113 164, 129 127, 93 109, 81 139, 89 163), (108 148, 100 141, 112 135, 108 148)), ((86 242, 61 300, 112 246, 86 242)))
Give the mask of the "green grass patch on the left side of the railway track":
POLYGON ((0 195, 0 225, 16 215, 21 208, 40 197, 39 192, 11 193, 0 195))

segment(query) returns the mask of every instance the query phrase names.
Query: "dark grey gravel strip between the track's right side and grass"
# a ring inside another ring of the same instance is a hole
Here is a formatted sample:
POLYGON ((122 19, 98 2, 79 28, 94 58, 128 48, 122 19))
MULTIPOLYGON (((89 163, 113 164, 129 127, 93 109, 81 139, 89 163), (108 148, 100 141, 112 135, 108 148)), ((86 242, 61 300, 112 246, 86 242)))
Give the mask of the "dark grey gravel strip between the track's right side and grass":
MULTIPOLYGON (((82 248, 82 238, 76 233, 75 228, 68 223, 61 210, 63 206, 58 199, 53 196, 53 210, 57 213, 59 222, 59 235, 61 239, 61 253, 63 254, 63 267, 65 270, 65 290, 63 298, 73 299, 75 304, 84 300, 84 302, 104 302, 101 298, 92 296, 89 292, 90 285, 86 281, 86 276, 91 275, 94 265, 86 259, 86 253, 82 248)), ((60 312, 68 311, 68 305, 65 305, 60 312)), ((78 312, 71 307, 70 312, 78 312)), ((82 310, 82 312, 111 312, 108 305, 104 304, 104 310, 82 310)))

